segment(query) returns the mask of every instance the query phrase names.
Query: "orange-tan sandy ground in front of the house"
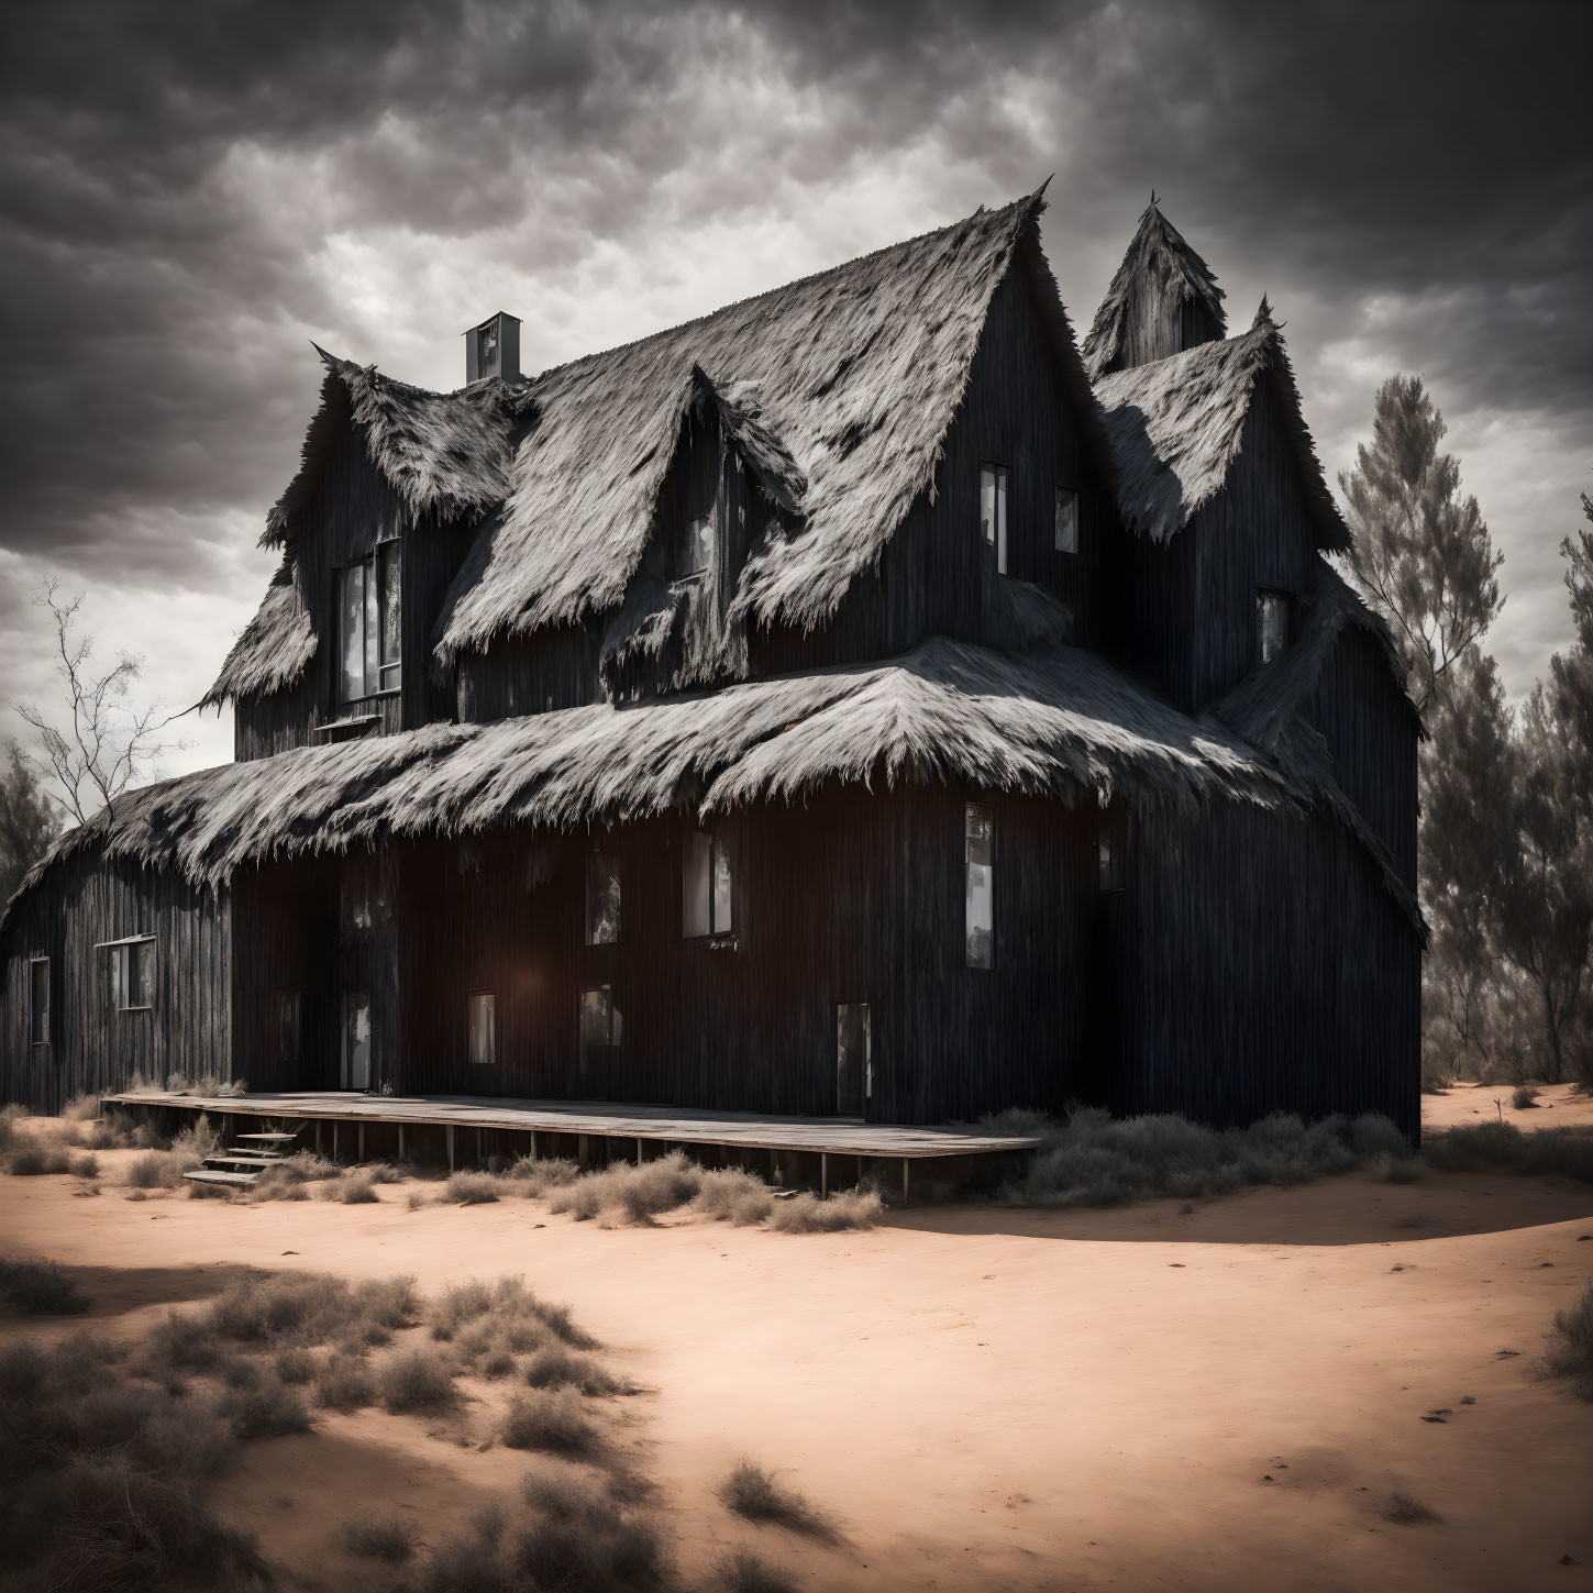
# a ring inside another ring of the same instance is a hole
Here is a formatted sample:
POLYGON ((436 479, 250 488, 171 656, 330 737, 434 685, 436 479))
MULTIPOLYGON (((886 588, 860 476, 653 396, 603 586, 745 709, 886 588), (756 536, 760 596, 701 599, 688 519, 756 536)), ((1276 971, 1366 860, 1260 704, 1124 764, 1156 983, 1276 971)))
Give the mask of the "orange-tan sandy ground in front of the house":
MULTIPOLYGON (((1426 1104, 1475 1121, 1493 1094, 1426 1104)), ((1574 1121, 1561 1094, 1525 1114, 1505 1096, 1504 1115, 1574 1121)), ((623 1402, 626 1443, 687 1585, 749 1542, 808 1588, 1593 1588, 1593 1407, 1534 1373, 1593 1274, 1583 1185, 1349 1176, 1187 1215, 919 1207, 798 1238, 601 1228, 530 1201, 411 1212, 393 1188, 135 1203, 115 1187, 126 1155, 100 1153, 97 1198, 0 1179, 8 1247, 91 1268, 91 1327, 139 1332, 245 1262, 425 1287, 524 1273, 653 1389, 623 1402), (841 1540, 731 1517, 714 1488, 741 1456, 841 1540), (1442 1520, 1383 1520, 1392 1489, 1442 1520)), ((381 1413, 245 1453, 221 1509, 285 1585, 327 1590, 382 1580, 338 1547, 346 1515, 397 1504, 435 1540, 530 1464, 381 1413)))

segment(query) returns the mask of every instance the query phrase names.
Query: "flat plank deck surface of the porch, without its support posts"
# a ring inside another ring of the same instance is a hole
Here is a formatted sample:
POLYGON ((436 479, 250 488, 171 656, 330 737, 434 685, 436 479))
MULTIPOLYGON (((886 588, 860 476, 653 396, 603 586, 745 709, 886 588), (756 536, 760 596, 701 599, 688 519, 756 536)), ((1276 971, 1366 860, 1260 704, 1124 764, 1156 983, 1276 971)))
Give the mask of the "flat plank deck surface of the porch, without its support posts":
MULTIPOLYGON (((218 1117, 256 1117, 293 1123, 374 1123, 386 1128, 441 1126, 586 1136, 628 1142, 626 1160, 640 1145, 712 1145, 822 1157, 926 1161, 1032 1150, 1023 1134, 992 1134, 977 1125, 865 1123, 846 1117, 773 1117, 757 1112, 706 1112, 693 1107, 609 1101, 515 1101, 499 1096, 368 1096, 349 1091, 261 1091, 244 1096, 190 1096, 164 1091, 102 1096, 107 1106, 143 1106, 218 1117)), ((448 1134, 452 1149, 454 1134, 448 1134)), ((449 1158, 452 1160, 452 1157, 449 1158)))

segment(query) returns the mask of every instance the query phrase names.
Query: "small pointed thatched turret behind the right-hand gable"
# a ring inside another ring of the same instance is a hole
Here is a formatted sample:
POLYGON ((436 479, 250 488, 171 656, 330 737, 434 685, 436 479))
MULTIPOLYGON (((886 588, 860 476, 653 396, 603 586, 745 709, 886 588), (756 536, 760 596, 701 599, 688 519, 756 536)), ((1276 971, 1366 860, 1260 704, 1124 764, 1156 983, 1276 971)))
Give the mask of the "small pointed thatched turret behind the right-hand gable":
POLYGON ((1225 336, 1222 299, 1211 268, 1152 193, 1085 338, 1091 379, 1225 336))

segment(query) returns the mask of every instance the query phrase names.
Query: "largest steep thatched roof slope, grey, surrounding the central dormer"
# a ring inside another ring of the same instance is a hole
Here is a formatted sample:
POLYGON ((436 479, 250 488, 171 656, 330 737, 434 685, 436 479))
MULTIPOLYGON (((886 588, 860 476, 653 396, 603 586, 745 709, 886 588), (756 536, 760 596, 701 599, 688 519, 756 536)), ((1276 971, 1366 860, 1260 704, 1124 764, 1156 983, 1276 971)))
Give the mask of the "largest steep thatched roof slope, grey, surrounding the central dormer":
MULTIPOLYGON (((623 601, 696 371, 746 417, 749 464, 765 484, 779 484, 776 495, 800 502, 804 521, 798 535, 774 537, 753 554, 736 602, 765 623, 822 623, 932 486, 991 295, 1026 239, 1037 252, 1039 210, 1039 194, 980 210, 543 373, 537 424, 511 467, 513 495, 454 581, 440 656, 623 601)), ((1059 304, 1055 317, 1066 327, 1059 304)), ((1059 357, 1082 408, 1093 411, 1070 335, 1059 357)))

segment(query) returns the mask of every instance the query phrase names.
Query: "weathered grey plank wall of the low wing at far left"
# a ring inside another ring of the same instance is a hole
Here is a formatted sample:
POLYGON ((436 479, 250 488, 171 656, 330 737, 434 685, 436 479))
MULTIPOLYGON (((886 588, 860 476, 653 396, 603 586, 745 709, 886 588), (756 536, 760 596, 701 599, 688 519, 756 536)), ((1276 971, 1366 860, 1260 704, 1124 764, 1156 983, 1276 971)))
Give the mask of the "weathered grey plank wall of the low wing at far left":
POLYGON ((134 1074, 166 1080, 229 1074, 231 906, 228 897, 131 863, 72 859, 13 908, 0 951, 0 1101, 53 1112, 134 1074), (118 1012, 112 953, 100 943, 155 935, 155 997, 118 1012), (51 1039, 29 1040, 29 959, 49 957, 51 1039))

